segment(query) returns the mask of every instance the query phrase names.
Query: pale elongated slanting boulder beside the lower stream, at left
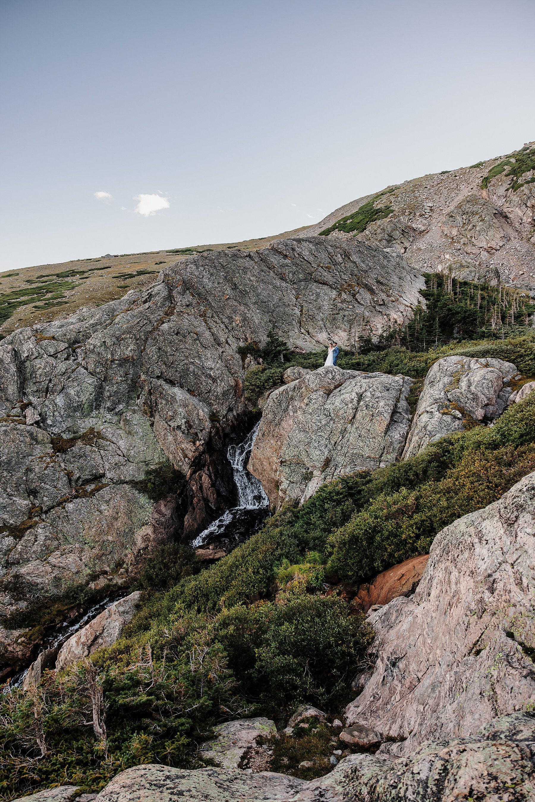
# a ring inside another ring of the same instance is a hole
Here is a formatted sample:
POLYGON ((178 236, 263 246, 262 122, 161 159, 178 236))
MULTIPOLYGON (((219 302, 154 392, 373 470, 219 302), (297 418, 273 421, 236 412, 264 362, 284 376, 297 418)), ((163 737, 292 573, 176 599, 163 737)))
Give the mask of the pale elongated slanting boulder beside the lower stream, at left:
POLYGON ((55 663, 56 669, 66 668, 93 654, 97 649, 112 646, 124 630, 124 626, 132 621, 136 606, 140 602, 140 595, 140 591, 135 590, 129 596, 119 599, 63 643, 55 663))

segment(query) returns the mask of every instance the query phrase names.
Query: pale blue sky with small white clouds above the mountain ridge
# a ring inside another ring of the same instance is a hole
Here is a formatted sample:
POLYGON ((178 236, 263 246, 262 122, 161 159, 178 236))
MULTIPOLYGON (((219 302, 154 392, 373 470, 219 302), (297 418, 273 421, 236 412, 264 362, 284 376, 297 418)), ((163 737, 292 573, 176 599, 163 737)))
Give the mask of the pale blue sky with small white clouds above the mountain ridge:
POLYGON ((0 270, 266 237, 535 140, 533 0, 0 0, 0 270))

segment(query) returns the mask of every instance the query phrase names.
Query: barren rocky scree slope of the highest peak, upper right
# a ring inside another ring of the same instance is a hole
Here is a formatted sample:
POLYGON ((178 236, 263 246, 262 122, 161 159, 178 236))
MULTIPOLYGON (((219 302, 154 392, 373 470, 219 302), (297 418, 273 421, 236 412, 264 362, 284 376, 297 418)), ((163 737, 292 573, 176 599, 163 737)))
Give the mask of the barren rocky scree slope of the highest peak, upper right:
MULTIPOLYGON (((524 151, 422 176, 342 206, 306 236, 318 234, 369 201, 387 215, 357 237, 405 253, 412 268, 468 281, 535 289, 535 143, 524 151), (517 165, 518 176, 511 175, 517 165)), ((330 237, 352 237, 332 233, 330 237)))

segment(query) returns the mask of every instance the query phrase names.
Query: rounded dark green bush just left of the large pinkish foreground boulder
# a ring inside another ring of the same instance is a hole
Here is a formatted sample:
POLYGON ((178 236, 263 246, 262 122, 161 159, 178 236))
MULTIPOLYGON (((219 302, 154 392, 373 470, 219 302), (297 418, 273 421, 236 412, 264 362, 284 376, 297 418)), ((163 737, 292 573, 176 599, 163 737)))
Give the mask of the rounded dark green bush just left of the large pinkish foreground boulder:
POLYGON ((236 607, 217 619, 217 636, 246 695, 278 719, 299 704, 347 703, 349 681, 371 643, 363 616, 331 597, 298 592, 285 603, 236 607))

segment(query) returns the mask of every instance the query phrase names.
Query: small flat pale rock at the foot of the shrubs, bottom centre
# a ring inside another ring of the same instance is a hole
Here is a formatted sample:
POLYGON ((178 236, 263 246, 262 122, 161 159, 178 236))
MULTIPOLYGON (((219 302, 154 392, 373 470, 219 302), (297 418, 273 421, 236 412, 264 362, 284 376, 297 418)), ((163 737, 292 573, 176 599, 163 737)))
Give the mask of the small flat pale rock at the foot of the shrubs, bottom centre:
POLYGON ((213 760, 221 768, 240 768, 246 751, 257 746, 257 738, 270 738, 277 732, 275 723, 265 716, 237 719, 214 727, 216 738, 206 741, 199 750, 201 759, 213 760))

